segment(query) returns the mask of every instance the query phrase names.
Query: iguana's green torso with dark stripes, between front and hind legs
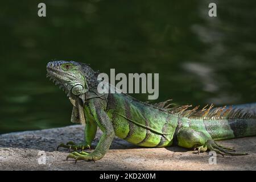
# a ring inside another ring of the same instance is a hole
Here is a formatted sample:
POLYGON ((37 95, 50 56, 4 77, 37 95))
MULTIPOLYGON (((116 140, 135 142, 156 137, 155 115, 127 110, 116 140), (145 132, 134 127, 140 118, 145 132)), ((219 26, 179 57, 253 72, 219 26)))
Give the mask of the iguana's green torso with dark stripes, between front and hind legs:
POLYGON ((109 94, 105 111, 119 138, 144 147, 164 147, 172 143, 177 117, 167 112, 125 94, 109 94))

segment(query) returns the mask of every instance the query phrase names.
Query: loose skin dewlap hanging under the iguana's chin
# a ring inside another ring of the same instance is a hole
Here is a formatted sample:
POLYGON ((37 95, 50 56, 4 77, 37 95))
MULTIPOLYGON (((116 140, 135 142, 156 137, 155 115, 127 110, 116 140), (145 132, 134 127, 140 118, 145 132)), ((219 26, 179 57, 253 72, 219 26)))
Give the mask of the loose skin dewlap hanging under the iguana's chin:
POLYGON ((75 99, 69 97, 71 104, 73 105, 73 110, 71 114, 71 122, 85 124, 86 119, 84 115, 84 102, 81 98, 76 97, 75 99))

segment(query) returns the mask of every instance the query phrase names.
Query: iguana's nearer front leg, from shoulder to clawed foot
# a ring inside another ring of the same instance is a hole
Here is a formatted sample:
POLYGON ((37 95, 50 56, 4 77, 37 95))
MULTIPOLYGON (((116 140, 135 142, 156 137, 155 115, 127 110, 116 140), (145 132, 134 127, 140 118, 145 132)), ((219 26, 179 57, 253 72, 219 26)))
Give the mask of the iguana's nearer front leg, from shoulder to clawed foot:
POLYGON ((73 158, 76 159, 76 161, 101 159, 109 150, 110 144, 114 139, 114 128, 112 122, 110 121, 104 109, 102 109, 102 106, 100 104, 97 104, 97 102, 90 100, 89 108, 93 117, 96 119, 98 127, 100 127, 103 132, 100 141, 98 142, 96 149, 92 153, 72 152, 67 156, 67 159, 73 158))

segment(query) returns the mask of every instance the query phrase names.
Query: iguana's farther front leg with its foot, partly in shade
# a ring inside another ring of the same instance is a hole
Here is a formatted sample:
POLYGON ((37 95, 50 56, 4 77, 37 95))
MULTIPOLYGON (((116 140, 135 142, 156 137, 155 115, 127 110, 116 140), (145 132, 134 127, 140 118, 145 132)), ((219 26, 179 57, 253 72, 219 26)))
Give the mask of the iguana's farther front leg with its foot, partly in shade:
POLYGON ((88 119, 84 129, 84 142, 76 144, 75 142, 69 141, 68 143, 64 144, 61 143, 57 146, 57 150, 59 147, 69 148, 69 151, 72 150, 84 150, 85 148, 89 148, 92 145, 92 141, 95 138, 97 131, 97 123, 94 119, 88 119))

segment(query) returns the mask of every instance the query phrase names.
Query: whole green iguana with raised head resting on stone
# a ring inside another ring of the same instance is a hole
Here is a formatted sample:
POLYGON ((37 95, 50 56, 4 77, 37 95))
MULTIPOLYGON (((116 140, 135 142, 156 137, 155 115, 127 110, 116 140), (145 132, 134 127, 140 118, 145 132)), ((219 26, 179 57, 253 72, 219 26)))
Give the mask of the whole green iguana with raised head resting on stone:
POLYGON ((215 140, 256 135, 256 103, 215 108, 210 105, 201 110, 198 106, 172 106, 170 100, 148 104, 124 93, 98 93, 99 73, 84 63, 52 61, 47 64, 47 72, 73 105, 71 121, 85 124, 83 143, 61 143, 57 147, 75 150, 67 159, 101 159, 114 135, 143 147, 168 147, 174 143, 198 152, 246 155, 215 140), (90 148, 97 127, 103 132, 97 147, 91 153, 82 151, 90 148))

